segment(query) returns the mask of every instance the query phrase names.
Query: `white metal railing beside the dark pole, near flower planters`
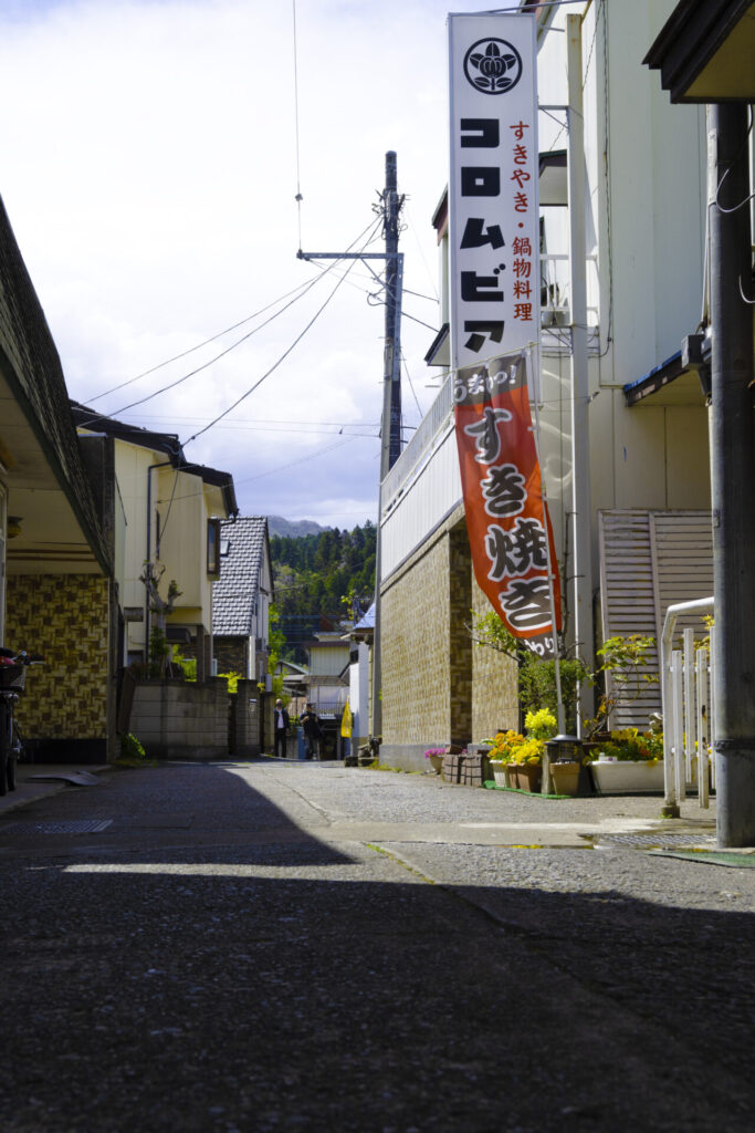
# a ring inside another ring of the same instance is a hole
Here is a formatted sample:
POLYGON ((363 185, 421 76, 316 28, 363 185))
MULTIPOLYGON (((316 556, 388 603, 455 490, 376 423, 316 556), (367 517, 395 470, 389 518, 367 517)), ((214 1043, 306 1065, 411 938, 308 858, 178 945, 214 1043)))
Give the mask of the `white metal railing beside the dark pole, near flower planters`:
POLYGON ((713 598, 669 606, 661 639, 663 692, 663 776, 666 808, 674 810, 687 796, 687 785, 697 783, 701 807, 709 806, 709 772, 715 785, 713 735, 713 630, 710 649, 695 647, 695 631, 685 629, 683 648, 672 649, 678 617, 713 611, 713 598))

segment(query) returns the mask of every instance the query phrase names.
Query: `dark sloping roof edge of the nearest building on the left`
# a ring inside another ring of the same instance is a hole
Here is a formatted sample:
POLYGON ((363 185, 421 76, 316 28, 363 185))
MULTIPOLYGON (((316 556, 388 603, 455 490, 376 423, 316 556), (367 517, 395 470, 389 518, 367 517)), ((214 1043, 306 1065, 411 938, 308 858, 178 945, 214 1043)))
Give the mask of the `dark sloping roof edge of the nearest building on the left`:
POLYGON ((60 357, 1 199, 0 355, 8 363, 5 372, 10 389, 36 433, 92 551, 110 571, 110 553, 81 461, 60 357))

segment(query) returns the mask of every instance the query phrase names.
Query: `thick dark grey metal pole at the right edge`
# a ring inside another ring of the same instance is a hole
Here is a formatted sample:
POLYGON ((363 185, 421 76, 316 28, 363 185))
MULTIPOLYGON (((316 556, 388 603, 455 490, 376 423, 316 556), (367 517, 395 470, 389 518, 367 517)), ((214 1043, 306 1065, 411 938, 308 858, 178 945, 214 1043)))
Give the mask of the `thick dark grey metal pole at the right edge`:
POLYGON ((755 389, 747 107, 709 108, 718 840, 755 845, 755 389))

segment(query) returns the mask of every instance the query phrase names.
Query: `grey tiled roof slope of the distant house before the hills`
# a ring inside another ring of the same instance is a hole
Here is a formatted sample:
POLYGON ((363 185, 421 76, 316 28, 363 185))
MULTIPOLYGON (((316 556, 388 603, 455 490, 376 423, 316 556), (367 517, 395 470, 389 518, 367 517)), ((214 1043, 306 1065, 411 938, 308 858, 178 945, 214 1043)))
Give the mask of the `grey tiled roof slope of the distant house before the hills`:
POLYGON ((221 523, 221 577, 213 585, 215 637, 248 637, 267 550, 267 519, 248 516, 221 523))

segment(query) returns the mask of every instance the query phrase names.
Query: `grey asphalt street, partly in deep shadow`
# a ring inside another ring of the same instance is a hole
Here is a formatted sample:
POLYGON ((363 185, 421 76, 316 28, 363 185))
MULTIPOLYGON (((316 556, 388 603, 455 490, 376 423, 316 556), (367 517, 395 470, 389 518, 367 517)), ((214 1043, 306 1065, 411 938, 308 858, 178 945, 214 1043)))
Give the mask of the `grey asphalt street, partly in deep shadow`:
POLYGON ((5 813, 0 1127, 749 1131, 755 870, 611 843, 658 808, 264 760, 5 813))

